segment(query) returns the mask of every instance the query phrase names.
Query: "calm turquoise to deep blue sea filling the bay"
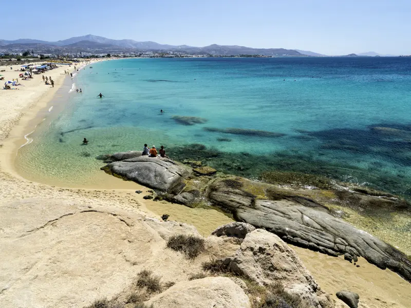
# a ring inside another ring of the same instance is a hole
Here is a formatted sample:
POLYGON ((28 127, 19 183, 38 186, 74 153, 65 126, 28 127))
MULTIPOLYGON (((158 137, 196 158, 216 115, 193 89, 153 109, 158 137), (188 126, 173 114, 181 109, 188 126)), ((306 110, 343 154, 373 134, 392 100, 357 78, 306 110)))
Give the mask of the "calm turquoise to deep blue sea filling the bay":
POLYGON ((411 195, 410 58, 130 59, 92 66, 73 80, 83 93, 67 93, 65 108, 21 148, 17 163, 26 174, 87 182, 102 165, 96 156, 147 143, 164 145, 174 159, 200 159, 250 178, 264 170, 303 171, 411 195), (184 125, 176 115, 202 123, 184 125))

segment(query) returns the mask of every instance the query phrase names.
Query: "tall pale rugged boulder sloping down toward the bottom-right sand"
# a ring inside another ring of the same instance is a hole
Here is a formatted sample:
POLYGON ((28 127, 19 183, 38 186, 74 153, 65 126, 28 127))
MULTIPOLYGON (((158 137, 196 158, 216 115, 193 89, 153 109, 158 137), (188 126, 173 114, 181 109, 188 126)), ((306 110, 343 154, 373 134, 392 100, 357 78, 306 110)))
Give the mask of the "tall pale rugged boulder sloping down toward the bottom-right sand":
POLYGON ((334 307, 297 254, 278 236, 263 229, 248 233, 234 257, 227 258, 231 272, 261 285, 281 282, 286 291, 314 307, 334 307))

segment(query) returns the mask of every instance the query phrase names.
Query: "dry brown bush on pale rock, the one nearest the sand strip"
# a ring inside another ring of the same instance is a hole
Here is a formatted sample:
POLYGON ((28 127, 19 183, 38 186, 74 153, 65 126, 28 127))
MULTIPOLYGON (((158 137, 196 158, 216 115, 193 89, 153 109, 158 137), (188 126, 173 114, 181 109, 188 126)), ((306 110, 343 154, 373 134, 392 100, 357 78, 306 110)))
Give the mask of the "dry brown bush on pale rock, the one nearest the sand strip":
POLYGON ((188 258, 194 259, 204 251, 204 239, 192 235, 173 235, 167 242, 167 247, 176 252, 184 253, 188 258))

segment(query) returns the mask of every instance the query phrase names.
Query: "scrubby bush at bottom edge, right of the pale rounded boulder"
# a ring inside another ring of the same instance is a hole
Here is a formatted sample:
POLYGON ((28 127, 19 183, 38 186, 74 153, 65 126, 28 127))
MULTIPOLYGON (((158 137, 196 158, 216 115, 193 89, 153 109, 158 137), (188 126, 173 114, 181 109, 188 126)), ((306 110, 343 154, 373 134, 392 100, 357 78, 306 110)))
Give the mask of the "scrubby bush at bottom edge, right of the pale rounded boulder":
POLYGON ((288 293, 281 283, 267 287, 268 294, 261 308, 308 308, 309 304, 300 296, 288 293))

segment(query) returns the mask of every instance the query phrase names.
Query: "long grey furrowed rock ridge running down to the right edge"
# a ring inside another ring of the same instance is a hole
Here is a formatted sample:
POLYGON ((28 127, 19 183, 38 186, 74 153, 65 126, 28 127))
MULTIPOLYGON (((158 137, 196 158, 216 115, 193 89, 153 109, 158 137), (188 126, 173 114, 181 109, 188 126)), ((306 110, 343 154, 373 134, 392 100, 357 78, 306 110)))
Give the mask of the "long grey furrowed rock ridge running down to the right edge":
POLYGON ((288 243, 332 256, 361 256, 411 282, 411 262, 403 253, 312 202, 260 200, 223 181, 211 186, 209 199, 229 209, 235 220, 264 227, 288 243))

